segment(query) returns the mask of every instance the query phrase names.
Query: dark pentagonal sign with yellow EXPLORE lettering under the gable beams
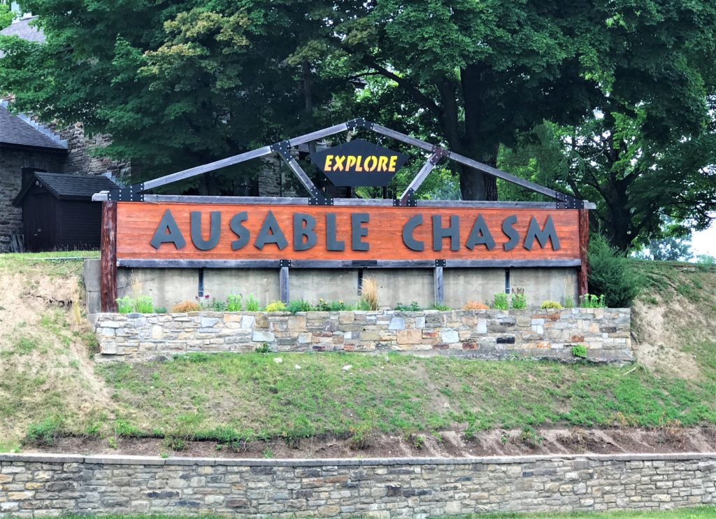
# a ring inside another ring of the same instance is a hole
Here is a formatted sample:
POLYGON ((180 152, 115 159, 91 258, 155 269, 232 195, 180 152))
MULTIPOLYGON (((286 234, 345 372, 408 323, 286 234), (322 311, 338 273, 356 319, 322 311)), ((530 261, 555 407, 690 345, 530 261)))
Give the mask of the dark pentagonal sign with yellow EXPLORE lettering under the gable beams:
POLYGON ((354 139, 311 154, 311 161, 333 185, 388 185, 407 155, 354 139))

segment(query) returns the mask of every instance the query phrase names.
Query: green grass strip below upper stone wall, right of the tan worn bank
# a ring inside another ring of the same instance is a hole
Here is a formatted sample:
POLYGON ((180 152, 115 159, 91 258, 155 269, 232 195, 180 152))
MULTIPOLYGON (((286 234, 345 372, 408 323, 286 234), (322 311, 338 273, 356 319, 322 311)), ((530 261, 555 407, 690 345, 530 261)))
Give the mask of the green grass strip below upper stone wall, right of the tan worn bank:
POLYGON ((340 436, 357 427, 405 433, 716 422, 714 379, 657 378, 632 366, 284 353, 188 354, 98 369, 136 435, 268 438, 340 436), (352 369, 342 369, 346 364, 352 369))

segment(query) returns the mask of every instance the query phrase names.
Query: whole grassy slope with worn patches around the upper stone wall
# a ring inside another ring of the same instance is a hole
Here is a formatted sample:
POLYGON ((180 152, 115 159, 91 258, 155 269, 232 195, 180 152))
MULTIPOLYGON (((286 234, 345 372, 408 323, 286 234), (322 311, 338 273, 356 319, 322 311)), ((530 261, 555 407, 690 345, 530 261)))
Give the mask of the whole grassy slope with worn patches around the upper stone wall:
POLYGON ((659 346, 654 326, 637 316, 640 333, 689 360, 697 376, 670 368, 674 362, 618 367, 399 354, 191 354, 95 365, 87 329, 67 304, 72 296, 62 295, 77 291, 81 263, 0 256, 0 283, 15 291, 0 309, 10 330, 0 337, 0 449, 18 447, 28 434, 51 442, 58 432, 107 442, 117 435, 221 441, 715 423, 716 273, 643 268, 649 286, 640 311, 666 316, 668 326, 660 326, 669 344, 659 346))

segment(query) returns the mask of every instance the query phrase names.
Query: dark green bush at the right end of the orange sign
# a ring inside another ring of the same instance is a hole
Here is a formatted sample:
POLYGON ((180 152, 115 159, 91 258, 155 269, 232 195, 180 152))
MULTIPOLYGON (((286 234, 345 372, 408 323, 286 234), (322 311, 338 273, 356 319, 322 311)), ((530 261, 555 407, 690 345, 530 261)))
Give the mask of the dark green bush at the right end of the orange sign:
POLYGON ((644 275, 624 253, 616 251, 604 236, 590 236, 589 292, 604 294, 611 308, 631 306, 644 285, 644 275))

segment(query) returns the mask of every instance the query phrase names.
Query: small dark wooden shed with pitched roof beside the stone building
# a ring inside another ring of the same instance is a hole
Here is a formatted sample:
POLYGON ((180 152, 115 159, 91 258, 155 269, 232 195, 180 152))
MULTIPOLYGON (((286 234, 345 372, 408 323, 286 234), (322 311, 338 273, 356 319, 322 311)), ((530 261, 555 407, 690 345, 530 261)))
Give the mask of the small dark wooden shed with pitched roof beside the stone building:
POLYGON ((87 177, 35 171, 13 200, 22 208, 26 251, 100 248, 102 204, 92 195, 114 190, 107 177, 87 177))

